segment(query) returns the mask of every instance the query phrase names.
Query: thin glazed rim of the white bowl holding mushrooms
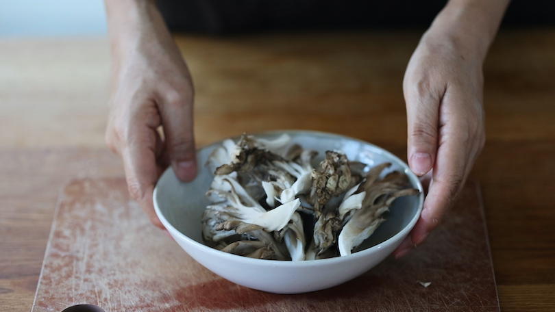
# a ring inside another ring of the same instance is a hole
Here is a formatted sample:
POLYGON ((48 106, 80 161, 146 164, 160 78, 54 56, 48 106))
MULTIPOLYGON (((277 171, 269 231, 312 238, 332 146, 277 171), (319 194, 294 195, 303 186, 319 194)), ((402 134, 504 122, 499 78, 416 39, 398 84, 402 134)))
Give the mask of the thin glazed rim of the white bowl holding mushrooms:
MULTIPOLYGON (((412 172, 412 170, 410 170, 410 168, 408 167, 408 165, 402 161, 402 159, 399 159, 399 157, 393 155, 393 153, 387 151, 385 148, 382 148, 380 146, 377 146, 375 144, 366 142, 364 140, 360 140, 357 138, 352 138, 350 136, 347 135, 341 135, 341 134, 336 134, 336 133, 328 133, 328 132, 323 132, 323 131, 312 131, 312 130, 273 130, 273 131, 263 131, 263 132, 258 132, 258 133, 249 133, 249 135, 265 135, 265 136, 269 136, 269 135, 281 135, 281 134, 304 134, 304 135, 319 135, 319 136, 326 136, 326 137, 334 137, 334 138, 341 138, 341 139, 347 139, 347 140, 351 140, 351 141, 355 141, 355 142, 359 142, 360 144, 365 144, 365 145, 369 145, 372 146, 373 148, 377 148, 380 153, 383 153, 384 155, 386 155, 387 157, 390 157, 391 159, 394 159, 395 161, 397 161, 397 164, 399 164, 400 166, 403 167, 404 172, 409 176, 410 181, 416 181, 417 185, 415 185, 415 187, 420 191, 420 193, 418 194, 419 196, 419 204, 418 204, 418 209, 417 209, 417 213, 415 213, 415 216, 412 217, 412 219, 410 220, 410 222, 408 222, 408 224, 406 226, 404 226, 403 229, 401 229, 401 231, 397 232, 395 235, 393 235, 392 237, 389 237, 388 239, 384 240, 384 242, 381 242, 380 244, 376 244, 375 246, 372 246, 370 248, 367 248, 365 250, 360 250, 358 252, 353 252, 351 253, 351 255, 347 255, 347 256, 339 256, 339 257, 333 257, 333 258, 326 258, 326 259, 315 259, 315 260, 304 260, 304 261, 283 261, 283 260, 272 260, 272 259, 253 259, 253 258, 248 258, 248 257, 243 257, 243 256, 239 256, 239 255, 234 255, 228 252, 223 252, 221 250, 217 250, 214 249, 210 246, 206 246, 206 244, 201 244, 199 242, 197 242, 195 239, 192 239, 186 235, 184 235, 181 231, 175 229, 175 226, 173 226, 164 216, 164 214, 162 213, 162 211, 160 210, 160 207, 158 206, 158 201, 156 200, 156 194, 158 193, 158 180, 156 182, 156 187, 154 187, 154 191, 152 194, 152 201, 153 201, 153 205, 154 205, 154 210, 156 211, 156 216, 158 216, 158 218, 160 219, 160 222, 162 222, 162 224, 164 225, 164 227, 170 232, 170 233, 174 233, 176 235, 178 235, 181 239, 183 239, 185 242, 188 242, 188 244, 192 244, 193 246, 195 246, 196 248, 201 248, 201 250, 205 250, 206 252, 210 253, 211 255, 217 256, 217 257, 223 257, 224 259, 229 259, 231 261, 246 261, 245 264, 256 264, 256 265, 270 265, 272 267, 282 267, 282 266, 286 266, 286 267, 291 267, 291 265, 299 265, 299 266, 305 266, 305 265, 326 265, 326 264, 334 264, 334 262, 343 262, 343 261, 347 261, 347 260, 356 260, 359 259, 361 257, 366 257, 367 254, 372 253, 374 250, 378 250, 381 248, 385 248, 386 246, 390 246, 391 244, 393 244, 394 241, 396 240, 401 240, 399 239, 399 237, 405 237, 406 235, 408 235, 408 233, 410 231, 412 231, 412 229, 414 228, 415 224, 417 223, 417 221, 420 218, 422 209, 423 209, 423 203, 424 203, 424 192, 423 192, 423 186, 422 183, 420 182, 420 180, 418 179, 417 175, 414 174, 412 172)), ((220 145, 221 142, 223 142, 223 140, 227 140, 227 139, 232 139, 232 140, 237 140, 238 138, 240 138, 240 135, 234 135, 230 138, 223 138, 222 140, 219 140, 217 142, 212 142, 210 144, 206 144, 204 146, 201 146, 199 148, 197 148, 197 153, 199 153, 201 150, 204 150, 206 148, 211 148, 212 146, 217 146, 220 145)), ((162 178, 162 176, 164 174, 166 174, 167 171, 172 170, 172 167, 169 166, 166 170, 164 170, 164 173, 162 173, 162 175, 160 175, 160 178, 162 178)))

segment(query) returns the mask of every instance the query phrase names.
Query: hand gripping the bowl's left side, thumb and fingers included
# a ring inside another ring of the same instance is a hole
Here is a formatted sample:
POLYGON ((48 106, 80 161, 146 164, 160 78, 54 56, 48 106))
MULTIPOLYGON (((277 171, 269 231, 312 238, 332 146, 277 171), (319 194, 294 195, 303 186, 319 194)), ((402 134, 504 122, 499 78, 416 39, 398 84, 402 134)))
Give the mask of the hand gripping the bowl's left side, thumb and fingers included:
POLYGON ((132 35, 110 34, 112 85, 106 143, 123 159, 131 196, 163 229, 152 199, 160 174, 169 165, 182 181, 197 174, 194 90, 162 17, 158 12, 148 17, 132 35), (158 132, 160 126, 165 138, 158 132))

